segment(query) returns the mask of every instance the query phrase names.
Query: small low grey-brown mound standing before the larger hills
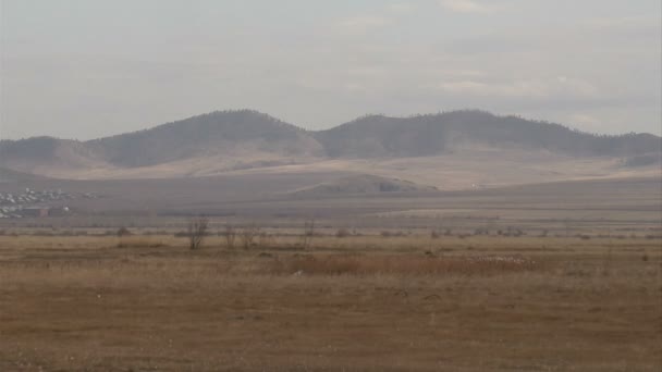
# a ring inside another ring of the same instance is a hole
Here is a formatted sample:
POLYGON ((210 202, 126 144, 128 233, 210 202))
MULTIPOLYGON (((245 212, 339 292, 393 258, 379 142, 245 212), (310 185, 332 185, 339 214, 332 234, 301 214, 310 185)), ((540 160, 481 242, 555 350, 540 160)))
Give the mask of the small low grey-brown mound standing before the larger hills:
POLYGON ((358 174, 297 189, 290 193, 290 195, 297 197, 324 197, 437 190, 437 187, 418 185, 405 179, 388 178, 371 174, 358 174))

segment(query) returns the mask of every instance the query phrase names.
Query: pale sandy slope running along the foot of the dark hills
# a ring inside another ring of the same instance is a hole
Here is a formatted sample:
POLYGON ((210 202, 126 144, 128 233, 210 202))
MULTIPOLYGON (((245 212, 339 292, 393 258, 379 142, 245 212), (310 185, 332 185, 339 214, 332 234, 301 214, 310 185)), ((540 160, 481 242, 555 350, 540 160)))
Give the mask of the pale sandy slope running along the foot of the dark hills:
POLYGON ((252 153, 205 157, 155 166, 50 169, 45 175, 73 179, 176 178, 232 174, 355 172, 407 179, 439 189, 482 188, 563 179, 655 176, 659 164, 627 168, 616 158, 575 158, 548 151, 470 148, 434 157, 397 159, 292 159, 252 153))

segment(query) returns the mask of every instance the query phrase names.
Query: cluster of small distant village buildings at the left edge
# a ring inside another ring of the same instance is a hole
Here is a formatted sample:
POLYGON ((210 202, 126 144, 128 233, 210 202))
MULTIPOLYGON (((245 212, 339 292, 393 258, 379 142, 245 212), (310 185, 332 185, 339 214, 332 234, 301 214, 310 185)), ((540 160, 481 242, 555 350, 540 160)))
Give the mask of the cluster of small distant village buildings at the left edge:
POLYGON ((69 213, 68 207, 51 208, 49 203, 73 199, 73 195, 62 190, 36 191, 26 188, 21 194, 0 193, 0 219, 62 215, 69 213))

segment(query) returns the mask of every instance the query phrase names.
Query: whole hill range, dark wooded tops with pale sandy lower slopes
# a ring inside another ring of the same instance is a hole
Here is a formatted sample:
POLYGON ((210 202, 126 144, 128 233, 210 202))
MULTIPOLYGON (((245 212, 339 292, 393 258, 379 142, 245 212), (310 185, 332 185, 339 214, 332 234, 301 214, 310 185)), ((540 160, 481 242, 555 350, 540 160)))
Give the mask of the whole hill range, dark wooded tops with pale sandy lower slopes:
POLYGON ((73 179, 351 172, 465 189, 654 176, 661 146, 650 134, 597 136, 482 111, 371 115, 310 132, 242 110, 88 141, 3 140, 0 166, 73 179))

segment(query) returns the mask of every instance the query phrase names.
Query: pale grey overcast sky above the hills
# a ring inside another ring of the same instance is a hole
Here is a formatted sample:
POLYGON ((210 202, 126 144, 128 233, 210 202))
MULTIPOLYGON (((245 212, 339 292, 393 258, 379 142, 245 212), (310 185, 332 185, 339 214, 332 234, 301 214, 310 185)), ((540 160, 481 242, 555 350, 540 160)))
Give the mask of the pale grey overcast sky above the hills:
POLYGON ((481 109, 662 133, 660 0, 0 0, 0 137, 229 109, 308 128, 481 109))

